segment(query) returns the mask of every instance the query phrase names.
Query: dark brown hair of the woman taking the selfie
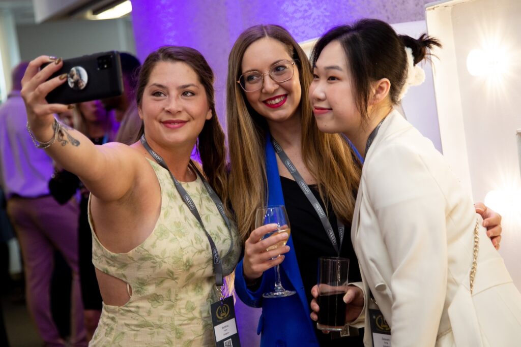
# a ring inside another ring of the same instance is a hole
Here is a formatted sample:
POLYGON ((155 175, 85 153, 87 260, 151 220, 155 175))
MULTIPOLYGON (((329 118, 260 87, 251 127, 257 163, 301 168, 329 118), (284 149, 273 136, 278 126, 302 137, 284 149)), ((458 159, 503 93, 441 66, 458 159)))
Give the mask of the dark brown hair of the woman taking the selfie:
MULTIPOLYGON (((150 74, 157 63, 161 61, 186 63, 195 71, 199 77, 199 82, 204 87, 208 106, 212 110, 212 118, 204 123, 203 130, 197 138, 196 149, 201 158, 203 173, 208 179, 208 183, 221 199, 224 199, 227 196, 226 146, 225 134, 215 111, 214 72, 203 55, 196 49, 182 46, 160 47, 148 55, 141 66, 136 91, 136 101, 139 107, 150 74)), ((172 76, 172 78, 175 78, 175 76, 172 76)), ((143 132, 144 127, 141 125, 138 139, 143 132)))

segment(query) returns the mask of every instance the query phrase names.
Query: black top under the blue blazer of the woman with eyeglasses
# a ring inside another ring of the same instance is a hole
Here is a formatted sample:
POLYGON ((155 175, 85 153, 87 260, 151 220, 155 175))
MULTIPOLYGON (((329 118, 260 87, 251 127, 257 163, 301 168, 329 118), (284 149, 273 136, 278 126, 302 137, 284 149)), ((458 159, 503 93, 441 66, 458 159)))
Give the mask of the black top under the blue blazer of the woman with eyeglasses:
MULTIPOLYGON (((284 204, 291 224, 291 238, 293 239, 294 251, 297 263, 299 264, 300 275, 304 284, 308 304, 311 303, 311 288, 317 284, 318 275, 318 258, 319 256, 337 256, 331 241, 326 235, 326 231, 320 222, 320 218, 313 209, 313 206, 307 200, 299 185, 292 179, 280 177, 282 185, 282 194, 284 196, 284 204)), ((333 212, 333 208, 329 203, 327 208, 320 199, 316 186, 309 186, 322 209, 328 211, 329 222, 333 227, 337 240, 338 235, 337 217, 333 212)), ((342 258, 348 258, 349 264, 349 281, 358 282, 362 280, 360 270, 358 268, 358 260, 351 243, 351 226, 345 224, 345 235, 340 250, 342 258)), ((315 333, 320 346, 363 346, 363 329, 359 337, 345 337, 332 340, 330 335, 325 335, 315 328, 315 333)))

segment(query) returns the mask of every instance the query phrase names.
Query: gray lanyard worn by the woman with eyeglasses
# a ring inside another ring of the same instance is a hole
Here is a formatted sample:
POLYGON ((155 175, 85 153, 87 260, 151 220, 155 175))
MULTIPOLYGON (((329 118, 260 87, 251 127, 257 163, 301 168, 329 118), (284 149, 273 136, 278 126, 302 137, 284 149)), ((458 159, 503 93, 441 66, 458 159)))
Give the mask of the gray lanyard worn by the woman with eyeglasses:
POLYGON ((334 236, 333 227, 331 226, 331 223, 329 223, 326 213, 324 213, 324 210, 322 210, 320 203, 318 202, 317 198, 315 198, 315 195, 313 194, 311 189, 309 189, 309 186, 304 181, 304 178, 302 178, 299 171, 296 170, 295 165, 293 165, 290 158, 288 158, 286 153, 282 150, 282 147, 279 146, 279 144, 273 137, 271 138, 271 144, 273 145, 273 148, 275 149, 275 152, 277 152, 279 158, 282 160, 284 166, 286 166, 286 169, 288 169, 288 171, 295 179, 296 183, 299 185, 307 200, 309 200, 309 203, 311 203, 311 205, 315 209, 315 212, 318 214, 318 217, 320 218, 320 222, 322 223, 324 230, 326 230, 326 234, 329 237, 329 241, 331 241, 331 245, 333 245, 334 250, 337 251, 338 256, 340 256, 340 250, 342 249, 342 240, 344 239, 344 223, 337 219, 338 236, 340 238, 339 245, 337 243, 337 237, 334 236))

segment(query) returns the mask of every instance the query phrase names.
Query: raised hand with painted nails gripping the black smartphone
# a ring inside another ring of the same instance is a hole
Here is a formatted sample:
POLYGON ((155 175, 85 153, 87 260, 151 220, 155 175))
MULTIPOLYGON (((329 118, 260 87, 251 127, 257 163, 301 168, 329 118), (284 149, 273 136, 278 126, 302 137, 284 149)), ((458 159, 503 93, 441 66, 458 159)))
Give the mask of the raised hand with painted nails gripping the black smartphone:
POLYGON ((21 96, 26 103, 27 121, 36 139, 45 142, 53 137, 54 113, 65 112, 68 105, 48 104, 45 96, 67 80, 67 74, 61 74, 49 81, 47 79, 58 71, 63 62, 49 56, 40 56, 29 63, 22 78, 21 96), (49 63, 40 70, 44 63, 49 63))

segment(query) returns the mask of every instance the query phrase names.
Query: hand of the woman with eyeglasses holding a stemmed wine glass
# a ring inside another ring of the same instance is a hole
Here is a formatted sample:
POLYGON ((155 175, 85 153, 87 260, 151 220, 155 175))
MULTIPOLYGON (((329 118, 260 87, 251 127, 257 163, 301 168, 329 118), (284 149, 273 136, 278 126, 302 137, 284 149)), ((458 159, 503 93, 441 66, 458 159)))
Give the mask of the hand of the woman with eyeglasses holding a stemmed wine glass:
POLYGON ((282 263, 284 255, 281 254, 289 252, 290 248, 288 246, 266 251, 267 248, 275 246, 278 242, 288 238, 287 233, 275 233, 262 240, 264 235, 276 229, 277 224, 263 225, 253 230, 250 237, 246 240, 243 262, 243 272, 246 280, 254 280, 261 277, 267 269, 282 263))

